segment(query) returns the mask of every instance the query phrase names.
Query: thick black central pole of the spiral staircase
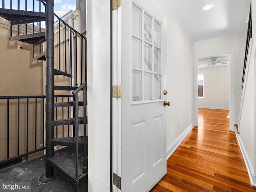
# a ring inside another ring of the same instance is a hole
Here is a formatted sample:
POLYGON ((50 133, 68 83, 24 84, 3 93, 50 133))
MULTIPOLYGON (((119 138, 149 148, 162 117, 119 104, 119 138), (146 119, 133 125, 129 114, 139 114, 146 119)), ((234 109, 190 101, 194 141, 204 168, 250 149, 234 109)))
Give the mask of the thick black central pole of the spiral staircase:
POLYGON ((48 158, 54 156, 54 0, 46 0, 46 178, 54 176, 54 168, 48 158))

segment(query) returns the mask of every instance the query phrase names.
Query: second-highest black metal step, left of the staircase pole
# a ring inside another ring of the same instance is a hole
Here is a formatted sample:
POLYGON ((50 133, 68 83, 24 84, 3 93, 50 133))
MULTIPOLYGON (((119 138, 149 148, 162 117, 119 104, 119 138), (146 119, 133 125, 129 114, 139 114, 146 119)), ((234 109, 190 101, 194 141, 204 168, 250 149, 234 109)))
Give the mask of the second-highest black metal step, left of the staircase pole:
POLYGON ((45 38, 45 32, 39 32, 39 33, 32 33, 32 34, 26 34, 26 35, 19 35, 19 36, 12 36, 10 37, 10 41, 22 41, 28 44, 36 44, 42 39, 45 38))

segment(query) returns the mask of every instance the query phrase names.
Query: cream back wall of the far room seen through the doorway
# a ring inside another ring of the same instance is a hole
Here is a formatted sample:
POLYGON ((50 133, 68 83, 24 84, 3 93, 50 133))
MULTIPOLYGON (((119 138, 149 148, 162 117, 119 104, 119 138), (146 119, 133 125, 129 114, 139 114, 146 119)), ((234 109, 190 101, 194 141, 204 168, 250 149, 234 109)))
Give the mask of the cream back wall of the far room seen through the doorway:
POLYGON ((204 74, 204 98, 198 98, 198 107, 229 109, 229 67, 198 69, 204 74))

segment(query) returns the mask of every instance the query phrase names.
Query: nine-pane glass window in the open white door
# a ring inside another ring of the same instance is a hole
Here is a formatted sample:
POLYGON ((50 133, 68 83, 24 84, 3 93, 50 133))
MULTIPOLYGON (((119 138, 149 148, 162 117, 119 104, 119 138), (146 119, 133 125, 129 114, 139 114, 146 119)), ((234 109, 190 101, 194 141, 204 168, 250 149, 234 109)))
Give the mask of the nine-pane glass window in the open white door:
POLYGON ((160 23, 132 4, 132 101, 161 99, 160 23))

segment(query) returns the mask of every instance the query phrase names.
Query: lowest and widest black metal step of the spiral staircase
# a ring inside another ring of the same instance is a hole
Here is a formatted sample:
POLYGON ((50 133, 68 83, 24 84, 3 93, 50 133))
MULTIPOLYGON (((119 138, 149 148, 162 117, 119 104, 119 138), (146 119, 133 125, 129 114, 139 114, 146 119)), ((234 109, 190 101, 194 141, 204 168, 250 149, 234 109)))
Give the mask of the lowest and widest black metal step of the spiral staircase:
MULTIPOLYGON (((79 175, 77 180, 80 180, 87 175, 87 173, 83 173, 84 153, 82 148, 79 148, 78 160, 79 175)), ((60 152, 57 151, 55 156, 46 159, 46 161, 48 161, 51 166, 66 175, 71 181, 76 181, 76 153, 74 147, 67 147, 65 150, 60 150, 60 152)))

